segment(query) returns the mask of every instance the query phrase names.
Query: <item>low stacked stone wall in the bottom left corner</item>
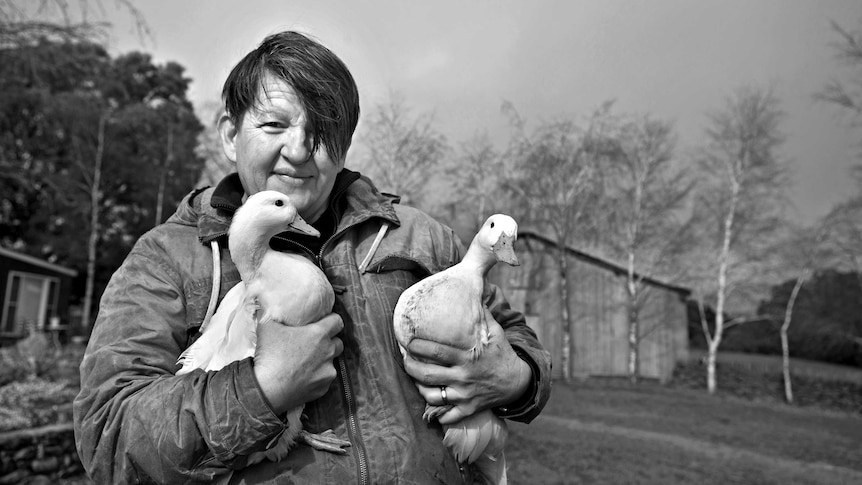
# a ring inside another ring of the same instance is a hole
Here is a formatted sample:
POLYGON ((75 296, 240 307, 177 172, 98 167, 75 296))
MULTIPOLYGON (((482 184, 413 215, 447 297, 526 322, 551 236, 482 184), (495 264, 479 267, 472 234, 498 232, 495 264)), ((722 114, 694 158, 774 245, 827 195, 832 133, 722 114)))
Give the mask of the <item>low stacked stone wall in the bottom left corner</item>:
POLYGON ((0 433, 0 485, 81 476, 72 424, 0 433))

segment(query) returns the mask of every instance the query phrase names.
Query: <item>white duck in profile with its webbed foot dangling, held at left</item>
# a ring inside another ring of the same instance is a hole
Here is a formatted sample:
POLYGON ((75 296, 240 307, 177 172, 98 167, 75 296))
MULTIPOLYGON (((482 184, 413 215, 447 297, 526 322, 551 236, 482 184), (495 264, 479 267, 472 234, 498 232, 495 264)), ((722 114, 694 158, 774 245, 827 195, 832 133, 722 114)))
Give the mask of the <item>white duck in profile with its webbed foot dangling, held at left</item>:
MULTIPOLYGON (((276 191, 251 195, 236 211, 228 248, 242 281, 225 295, 200 338, 180 355, 177 363, 182 368, 177 375, 194 369, 219 370, 253 356, 259 324, 305 325, 332 311, 335 293, 323 271, 299 254, 270 248, 270 239, 284 231, 320 236, 290 199, 276 191)), ((301 406, 288 411, 288 429, 279 443, 252 455, 249 462, 264 456, 278 461, 300 439, 315 449, 347 453, 342 447, 350 442, 336 438, 331 430, 320 435, 303 430, 302 410, 301 406)))

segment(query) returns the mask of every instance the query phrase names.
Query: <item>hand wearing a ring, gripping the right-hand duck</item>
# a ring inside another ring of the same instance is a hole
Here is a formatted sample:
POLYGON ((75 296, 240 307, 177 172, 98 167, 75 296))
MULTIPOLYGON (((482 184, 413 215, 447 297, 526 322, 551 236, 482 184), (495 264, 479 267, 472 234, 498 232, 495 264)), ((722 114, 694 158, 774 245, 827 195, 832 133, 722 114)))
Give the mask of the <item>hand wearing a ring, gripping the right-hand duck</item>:
POLYGON ((407 346, 404 369, 425 402, 441 406, 440 387, 452 408, 438 421, 451 424, 466 416, 515 401, 529 387, 532 370, 515 353, 503 328, 486 311, 489 343, 474 361, 470 350, 414 339, 407 346))

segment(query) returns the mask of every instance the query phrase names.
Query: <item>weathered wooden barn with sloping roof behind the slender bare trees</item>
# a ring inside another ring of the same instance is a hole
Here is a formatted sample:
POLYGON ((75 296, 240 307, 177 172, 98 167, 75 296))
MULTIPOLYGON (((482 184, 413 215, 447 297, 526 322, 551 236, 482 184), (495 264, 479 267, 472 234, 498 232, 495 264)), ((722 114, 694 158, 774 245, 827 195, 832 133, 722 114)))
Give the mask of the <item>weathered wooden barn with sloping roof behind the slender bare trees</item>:
MULTIPOLYGON (((555 243, 531 232, 515 244, 521 266, 498 264, 490 278, 524 312, 539 341, 551 352, 553 375, 563 376, 560 265, 555 243)), ((623 266, 567 248, 571 375, 627 376, 628 305, 623 266)), ((640 376, 667 381, 677 362, 688 359, 686 288, 645 278, 640 310, 640 376)))

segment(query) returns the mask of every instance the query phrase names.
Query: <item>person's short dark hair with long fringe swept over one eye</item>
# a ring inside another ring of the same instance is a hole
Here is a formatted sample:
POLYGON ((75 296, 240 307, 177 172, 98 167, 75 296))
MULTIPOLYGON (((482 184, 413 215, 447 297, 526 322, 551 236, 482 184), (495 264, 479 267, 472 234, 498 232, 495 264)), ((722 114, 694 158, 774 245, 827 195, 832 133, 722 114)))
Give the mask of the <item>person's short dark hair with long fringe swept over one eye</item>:
POLYGON ((331 50, 293 31, 268 36, 231 70, 222 89, 227 115, 235 124, 258 101, 270 73, 299 97, 314 134, 334 160, 344 158, 359 122, 359 91, 347 66, 331 50))

